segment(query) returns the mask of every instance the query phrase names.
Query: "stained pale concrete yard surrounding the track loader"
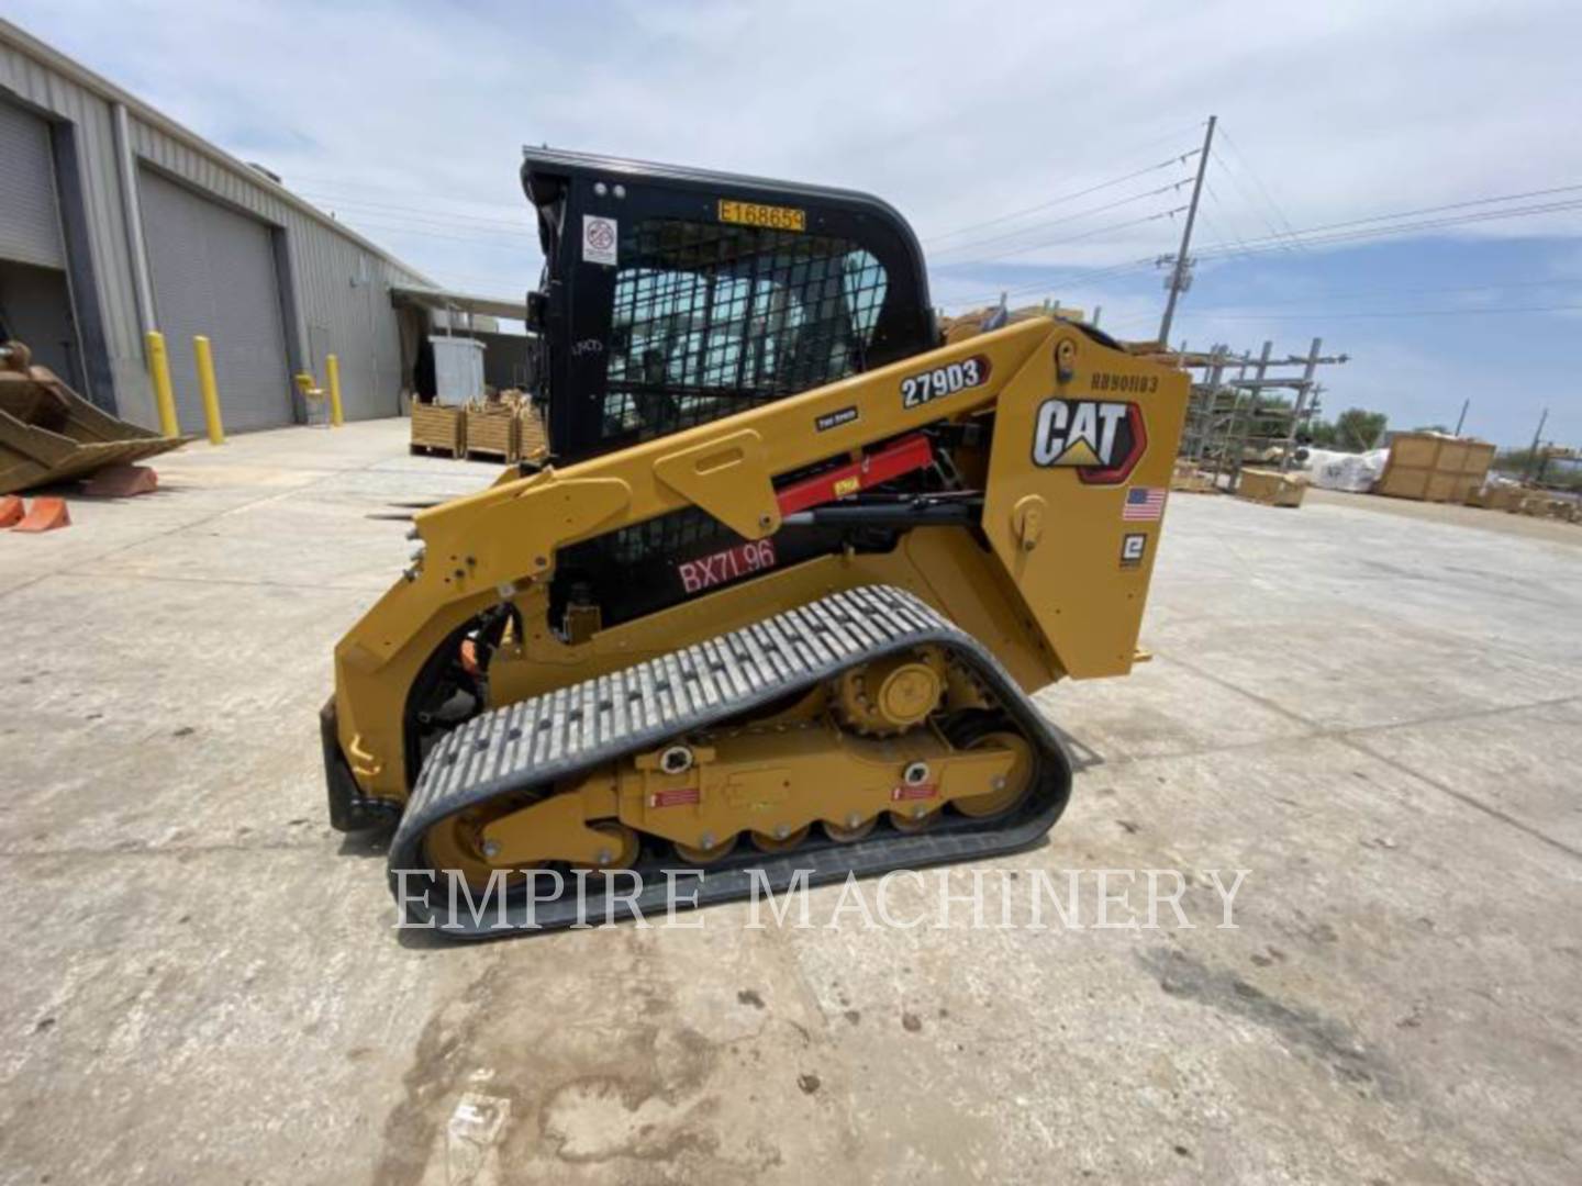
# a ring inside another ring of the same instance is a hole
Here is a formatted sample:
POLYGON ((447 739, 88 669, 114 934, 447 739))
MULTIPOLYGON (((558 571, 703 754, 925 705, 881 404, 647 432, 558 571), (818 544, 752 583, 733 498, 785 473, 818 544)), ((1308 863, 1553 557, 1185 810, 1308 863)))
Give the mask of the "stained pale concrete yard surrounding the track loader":
POLYGON ((1039 697, 1082 770, 979 867, 1009 928, 451 947, 324 824, 373 516, 494 473, 403 433, 190 446, 0 534, 0 1181, 1582 1180, 1582 550, 1177 495, 1156 659, 1039 697), (1183 870, 1194 927, 1025 927, 1068 870, 1183 870))

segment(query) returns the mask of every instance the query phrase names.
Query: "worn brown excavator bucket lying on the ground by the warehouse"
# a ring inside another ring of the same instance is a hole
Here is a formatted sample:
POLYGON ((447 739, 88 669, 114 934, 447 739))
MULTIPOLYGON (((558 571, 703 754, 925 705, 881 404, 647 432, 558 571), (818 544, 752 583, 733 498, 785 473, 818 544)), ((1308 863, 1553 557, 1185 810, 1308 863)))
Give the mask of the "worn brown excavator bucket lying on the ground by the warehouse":
POLYGON ((27 346, 0 346, 0 495, 85 478, 179 449, 185 436, 160 436, 100 411, 47 367, 28 365, 27 346))

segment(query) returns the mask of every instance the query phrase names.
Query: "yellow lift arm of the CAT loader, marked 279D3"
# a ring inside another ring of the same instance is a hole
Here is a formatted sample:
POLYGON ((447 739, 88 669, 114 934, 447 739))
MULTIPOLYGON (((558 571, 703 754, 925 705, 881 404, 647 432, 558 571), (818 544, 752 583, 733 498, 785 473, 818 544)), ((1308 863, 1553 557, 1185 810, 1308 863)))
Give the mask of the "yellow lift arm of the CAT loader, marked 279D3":
MULTIPOLYGON (((1168 485, 1185 398, 1185 375, 1109 349, 1076 326, 1039 318, 422 511, 414 520, 421 558, 335 650, 335 727, 351 772, 365 791, 405 795, 414 772, 405 770, 402 712, 416 672, 460 625, 547 582, 558 549, 687 506, 747 539, 761 539, 782 525, 777 476, 989 410, 995 443, 981 527, 1028 621, 1054 652, 1082 629, 1082 615, 1062 599, 1073 574, 1092 569, 1098 549, 1109 553, 1111 568, 1126 565, 1117 550, 1122 484, 1145 460, 1147 481, 1168 485), (1133 408, 1133 429, 1115 422, 1115 408, 1123 406, 1133 408), (1084 417, 1087 424, 1073 422, 1084 417), (1161 448, 1149 452, 1147 433, 1161 448), (1058 451, 1077 438, 1088 441, 1087 451, 1074 452, 1073 444, 1071 459, 1063 460, 1058 451), (1112 460, 1107 454, 1117 440, 1130 441, 1133 455, 1111 481, 1104 462, 1112 460), (1098 485, 1088 481, 1095 474, 1098 485), (1069 501, 1076 495, 1085 501, 1069 501), (1062 511, 1069 516, 1060 519, 1062 511), (1057 519, 1058 534, 1074 539, 1077 550, 1039 546, 1057 519)), ((1137 534, 1156 527, 1155 517, 1137 534)), ((1141 591, 1152 546, 1145 552, 1141 591)), ((1109 587, 1107 580, 1095 585, 1109 587)), ((1141 593, 1126 596, 1136 602, 1133 617, 1141 617, 1141 593)), ((1125 648, 1098 663, 1065 661, 1065 667, 1111 674, 1106 666, 1118 663, 1125 670, 1130 661, 1125 648)))

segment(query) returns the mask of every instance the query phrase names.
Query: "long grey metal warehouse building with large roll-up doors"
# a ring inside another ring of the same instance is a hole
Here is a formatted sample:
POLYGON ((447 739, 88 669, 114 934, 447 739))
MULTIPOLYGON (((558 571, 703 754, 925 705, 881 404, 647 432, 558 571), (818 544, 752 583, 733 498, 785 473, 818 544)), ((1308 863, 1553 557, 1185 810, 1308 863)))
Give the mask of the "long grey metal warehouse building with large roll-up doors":
POLYGON ((228 430, 301 421, 293 375, 323 380, 326 354, 348 417, 394 416, 424 305, 443 304, 470 307, 0 21, 0 323, 101 408, 157 425, 158 329, 182 432, 204 427, 195 334, 214 343, 228 430))

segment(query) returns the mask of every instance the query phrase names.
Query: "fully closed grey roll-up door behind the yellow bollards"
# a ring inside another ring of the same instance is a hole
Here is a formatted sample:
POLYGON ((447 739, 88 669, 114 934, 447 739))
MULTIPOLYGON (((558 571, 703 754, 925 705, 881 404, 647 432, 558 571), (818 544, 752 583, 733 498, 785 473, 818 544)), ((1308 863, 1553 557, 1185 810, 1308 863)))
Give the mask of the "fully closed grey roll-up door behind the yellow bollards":
POLYGON ((193 335, 209 337, 226 430, 290 424, 291 378, 269 228, 139 169, 153 310, 182 432, 202 432, 193 335))

